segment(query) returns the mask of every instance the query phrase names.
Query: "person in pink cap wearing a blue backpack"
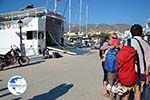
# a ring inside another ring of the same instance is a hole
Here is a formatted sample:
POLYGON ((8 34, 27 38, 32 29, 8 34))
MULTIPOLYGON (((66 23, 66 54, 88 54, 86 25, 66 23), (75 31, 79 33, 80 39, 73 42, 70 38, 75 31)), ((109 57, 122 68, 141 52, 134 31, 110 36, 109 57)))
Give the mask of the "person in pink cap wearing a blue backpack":
POLYGON ((107 89, 107 85, 112 84, 112 81, 114 80, 115 55, 118 51, 116 47, 119 45, 119 43, 120 41, 117 37, 117 34, 113 33, 109 36, 109 41, 107 43, 104 43, 100 48, 102 52, 105 52, 102 59, 102 67, 104 72, 103 88, 105 96, 110 95, 107 89))

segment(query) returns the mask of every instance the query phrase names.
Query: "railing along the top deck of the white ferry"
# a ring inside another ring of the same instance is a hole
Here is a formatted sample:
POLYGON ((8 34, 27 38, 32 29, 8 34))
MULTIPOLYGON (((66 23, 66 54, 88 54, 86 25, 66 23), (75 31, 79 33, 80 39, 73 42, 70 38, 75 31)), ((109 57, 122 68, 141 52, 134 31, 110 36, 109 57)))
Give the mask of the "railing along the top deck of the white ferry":
POLYGON ((15 12, 1 13, 0 22, 18 20, 26 17, 42 17, 45 15, 55 16, 57 18, 64 19, 64 17, 61 14, 54 13, 52 11, 47 10, 46 8, 40 7, 40 8, 25 9, 25 10, 20 10, 15 12))

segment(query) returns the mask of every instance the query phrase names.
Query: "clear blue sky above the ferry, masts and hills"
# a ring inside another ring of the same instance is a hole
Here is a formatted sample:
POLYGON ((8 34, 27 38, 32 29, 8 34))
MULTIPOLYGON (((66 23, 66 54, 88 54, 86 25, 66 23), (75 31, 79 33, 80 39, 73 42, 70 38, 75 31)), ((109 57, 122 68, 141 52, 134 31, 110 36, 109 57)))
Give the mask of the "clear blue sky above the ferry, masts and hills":
MULTIPOLYGON (((54 1, 48 0, 47 8, 54 10, 54 1)), ((59 0, 57 12, 64 15, 68 22, 68 0, 59 0)), ((0 0, 0 13, 17 11, 33 4, 34 7, 46 7, 47 0, 0 0)), ((71 23, 79 24, 80 0, 72 0, 71 23)), ((82 24, 86 23, 88 6, 88 24, 142 24, 150 18, 150 0, 82 0, 82 24)))

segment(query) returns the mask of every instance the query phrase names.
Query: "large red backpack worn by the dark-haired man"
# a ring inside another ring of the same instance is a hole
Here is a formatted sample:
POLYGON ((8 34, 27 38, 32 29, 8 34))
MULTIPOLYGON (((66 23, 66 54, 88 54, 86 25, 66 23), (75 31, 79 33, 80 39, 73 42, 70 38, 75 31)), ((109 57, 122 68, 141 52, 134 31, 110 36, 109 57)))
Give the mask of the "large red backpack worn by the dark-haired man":
POLYGON ((129 45, 123 46, 116 55, 117 78, 122 85, 132 86, 136 84, 136 58, 136 50, 129 45))

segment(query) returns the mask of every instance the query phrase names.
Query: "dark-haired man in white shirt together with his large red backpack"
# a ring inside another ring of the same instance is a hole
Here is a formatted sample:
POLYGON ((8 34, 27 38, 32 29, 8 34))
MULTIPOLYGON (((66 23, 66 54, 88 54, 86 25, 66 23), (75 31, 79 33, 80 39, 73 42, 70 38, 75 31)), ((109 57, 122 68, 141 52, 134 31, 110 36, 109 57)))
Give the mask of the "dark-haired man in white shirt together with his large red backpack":
POLYGON ((141 100, 141 92, 148 83, 148 69, 150 68, 150 46, 142 39, 143 28, 134 24, 130 28, 132 38, 128 39, 116 56, 117 77, 122 86, 128 88, 123 100, 129 100, 131 89, 135 100, 141 100))

